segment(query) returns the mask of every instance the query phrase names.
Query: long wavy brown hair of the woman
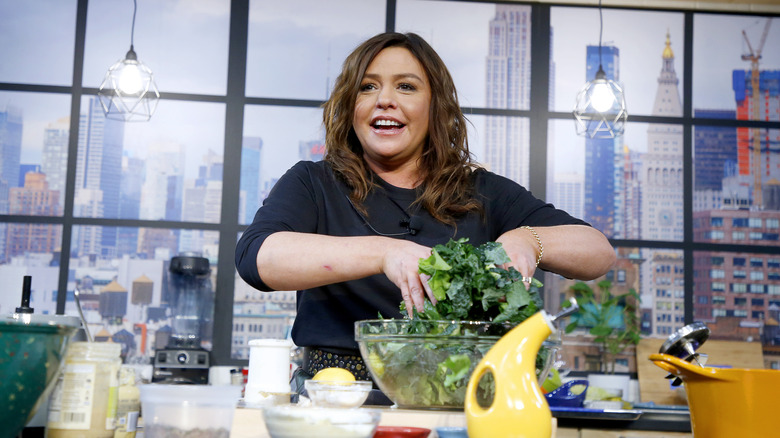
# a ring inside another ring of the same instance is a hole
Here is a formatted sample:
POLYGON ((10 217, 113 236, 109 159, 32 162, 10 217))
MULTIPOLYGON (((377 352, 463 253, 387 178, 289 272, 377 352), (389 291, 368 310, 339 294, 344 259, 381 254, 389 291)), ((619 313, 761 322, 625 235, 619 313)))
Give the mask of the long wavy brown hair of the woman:
POLYGON ((403 47, 422 64, 431 86, 428 136, 420 158, 422 184, 416 203, 431 216, 454 225, 455 218, 482 211, 472 190, 472 173, 479 168, 466 135, 466 118, 447 66, 433 48, 414 33, 382 33, 359 45, 344 61, 333 93, 323 105, 325 161, 351 187, 350 199, 362 202, 375 184, 363 158, 363 147, 352 126, 355 102, 368 65, 388 47, 403 47))

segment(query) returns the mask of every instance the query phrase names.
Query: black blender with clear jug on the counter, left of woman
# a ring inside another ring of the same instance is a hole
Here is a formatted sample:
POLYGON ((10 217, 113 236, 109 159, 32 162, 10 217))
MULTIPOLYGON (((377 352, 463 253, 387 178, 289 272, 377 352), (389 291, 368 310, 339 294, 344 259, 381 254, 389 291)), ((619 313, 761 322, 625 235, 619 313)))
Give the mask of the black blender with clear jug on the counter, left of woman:
POLYGON ((201 339, 211 329, 214 292, 207 258, 181 253, 171 259, 168 276, 171 337, 154 354, 152 382, 207 384, 209 351, 201 339))

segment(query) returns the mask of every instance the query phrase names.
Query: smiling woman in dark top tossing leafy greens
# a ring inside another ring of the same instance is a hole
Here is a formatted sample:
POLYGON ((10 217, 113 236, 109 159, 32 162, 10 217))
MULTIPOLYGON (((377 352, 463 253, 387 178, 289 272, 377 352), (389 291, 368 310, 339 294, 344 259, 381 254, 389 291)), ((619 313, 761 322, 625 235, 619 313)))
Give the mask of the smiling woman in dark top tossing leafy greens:
POLYGON ((615 260, 599 231, 472 162, 452 78, 415 34, 355 49, 323 120, 324 161, 277 182, 236 250, 250 285, 298 291, 292 336, 310 375, 368 379, 354 322, 435 302, 417 264, 450 238, 502 243, 527 281, 537 267, 593 279, 615 260))

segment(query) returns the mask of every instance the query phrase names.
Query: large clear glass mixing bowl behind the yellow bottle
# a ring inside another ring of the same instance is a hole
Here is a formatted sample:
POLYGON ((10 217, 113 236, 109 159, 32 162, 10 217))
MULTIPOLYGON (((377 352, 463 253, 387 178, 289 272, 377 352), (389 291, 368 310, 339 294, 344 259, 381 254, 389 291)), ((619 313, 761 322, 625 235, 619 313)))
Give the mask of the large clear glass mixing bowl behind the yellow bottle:
MULTIPOLYGON (((365 320, 355 323, 355 340, 377 386, 398 407, 460 410, 472 371, 496 341, 516 325, 365 320)), ((542 345, 536 360, 541 381, 547 377, 559 345, 552 340, 542 345)), ((480 382, 478 398, 490 400, 492 379, 486 377, 480 382)))

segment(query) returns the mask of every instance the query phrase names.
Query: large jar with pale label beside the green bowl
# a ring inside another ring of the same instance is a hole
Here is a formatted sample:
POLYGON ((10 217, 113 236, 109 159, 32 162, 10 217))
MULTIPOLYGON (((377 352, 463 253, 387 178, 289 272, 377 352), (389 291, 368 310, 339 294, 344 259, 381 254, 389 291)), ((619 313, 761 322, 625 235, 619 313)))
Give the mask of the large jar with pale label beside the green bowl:
POLYGON ((49 401, 48 438, 113 438, 121 346, 73 342, 49 401))

